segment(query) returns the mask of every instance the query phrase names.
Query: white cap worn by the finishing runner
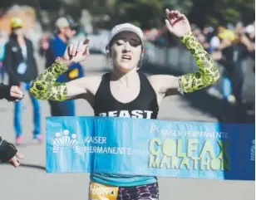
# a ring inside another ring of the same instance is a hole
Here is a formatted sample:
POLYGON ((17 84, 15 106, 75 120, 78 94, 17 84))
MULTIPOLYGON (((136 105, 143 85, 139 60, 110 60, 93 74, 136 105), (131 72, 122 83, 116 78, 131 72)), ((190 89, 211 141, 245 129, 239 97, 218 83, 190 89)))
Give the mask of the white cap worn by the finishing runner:
POLYGON ((144 36, 142 30, 140 29, 140 27, 136 27, 135 25, 130 23, 122 23, 112 28, 111 36, 109 37, 108 41, 108 46, 110 45, 112 39, 116 37, 116 35, 120 32, 134 32, 138 37, 140 37, 141 44, 144 47, 144 36))

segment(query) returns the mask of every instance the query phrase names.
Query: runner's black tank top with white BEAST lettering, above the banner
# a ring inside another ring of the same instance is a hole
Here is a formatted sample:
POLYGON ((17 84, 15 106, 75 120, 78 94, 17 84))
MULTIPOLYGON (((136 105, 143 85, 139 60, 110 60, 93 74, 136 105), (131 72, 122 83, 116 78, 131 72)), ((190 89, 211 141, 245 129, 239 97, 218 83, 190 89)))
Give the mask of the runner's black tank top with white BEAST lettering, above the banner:
POLYGON ((96 116, 130 117, 156 119, 159 111, 157 97, 145 74, 140 77, 140 93, 135 100, 121 103, 111 95, 111 73, 102 76, 101 84, 96 91, 94 111, 96 116))

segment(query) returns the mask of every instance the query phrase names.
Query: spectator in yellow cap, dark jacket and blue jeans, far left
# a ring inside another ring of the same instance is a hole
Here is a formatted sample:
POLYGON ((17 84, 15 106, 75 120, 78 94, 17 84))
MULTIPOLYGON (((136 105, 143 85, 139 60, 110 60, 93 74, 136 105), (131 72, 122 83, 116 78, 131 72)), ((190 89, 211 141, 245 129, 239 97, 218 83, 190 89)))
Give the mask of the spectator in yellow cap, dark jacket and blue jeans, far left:
MULTIPOLYGON (((5 66, 9 76, 10 85, 17 85, 21 90, 29 90, 30 83, 37 77, 37 63, 33 56, 32 41, 24 36, 23 23, 20 18, 14 17, 11 21, 12 32, 7 41, 5 53, 5 66)), ((30 95, 34 110, 33 141, 41 142, 41 114, 37 99, 30 95)), ((22 101, 15 104, 14 129, 16 144, 22 144, 22 101)))

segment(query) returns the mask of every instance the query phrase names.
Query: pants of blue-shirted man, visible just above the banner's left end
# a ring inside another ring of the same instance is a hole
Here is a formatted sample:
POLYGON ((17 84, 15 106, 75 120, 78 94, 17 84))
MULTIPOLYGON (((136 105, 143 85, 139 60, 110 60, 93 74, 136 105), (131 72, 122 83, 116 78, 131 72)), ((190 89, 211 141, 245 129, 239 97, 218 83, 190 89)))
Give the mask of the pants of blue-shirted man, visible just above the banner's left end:
POLYGON ((75 101, 65 100, 62 102, 50 101, 52 116, 75 116, 75 101))

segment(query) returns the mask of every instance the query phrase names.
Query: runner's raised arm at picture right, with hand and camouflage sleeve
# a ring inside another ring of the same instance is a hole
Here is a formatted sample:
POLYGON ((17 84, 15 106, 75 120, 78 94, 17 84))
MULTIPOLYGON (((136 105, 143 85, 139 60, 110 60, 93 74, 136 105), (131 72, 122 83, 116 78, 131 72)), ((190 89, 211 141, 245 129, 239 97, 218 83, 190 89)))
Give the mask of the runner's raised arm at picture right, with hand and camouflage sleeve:
MULTIPOLYGON (((190 30, 190 22, 185 15, 178 11, 166 10, 168 20, 165 20, 166 27, 176 37, 180 37, 181 42, 190 50, 191 54, 199 66, 195 73, 183 76, 151 76, 150 81, 155 86, 155 90, 161 94, 168 94, 170 90, 179 90, 180 93, 190 93, 214 84, 219 80, 219 70, 204 47, 194 37, 190 30)), ((177 93, 175 93, 177 94, 177 93)))

